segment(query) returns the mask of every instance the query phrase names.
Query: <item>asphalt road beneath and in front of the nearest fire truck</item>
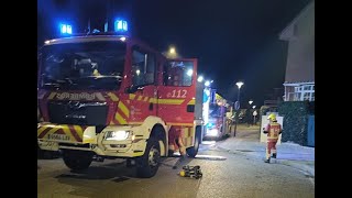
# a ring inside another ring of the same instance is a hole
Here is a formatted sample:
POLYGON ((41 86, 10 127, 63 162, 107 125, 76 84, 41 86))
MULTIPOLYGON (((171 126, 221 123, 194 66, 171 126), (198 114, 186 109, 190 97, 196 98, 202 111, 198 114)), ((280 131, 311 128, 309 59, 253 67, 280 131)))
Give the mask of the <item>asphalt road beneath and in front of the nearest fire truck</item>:
POLYGON ((315 197, 314 179, 280 164, 266 164, 202 144, 196 158, 202 178, 180 177, 173 169, 177 157, 165 158, 156 176, 141 179, 121 160, 94 162, 82 173, 72 173, 62 158, 37 160, 37 197, 315 197))

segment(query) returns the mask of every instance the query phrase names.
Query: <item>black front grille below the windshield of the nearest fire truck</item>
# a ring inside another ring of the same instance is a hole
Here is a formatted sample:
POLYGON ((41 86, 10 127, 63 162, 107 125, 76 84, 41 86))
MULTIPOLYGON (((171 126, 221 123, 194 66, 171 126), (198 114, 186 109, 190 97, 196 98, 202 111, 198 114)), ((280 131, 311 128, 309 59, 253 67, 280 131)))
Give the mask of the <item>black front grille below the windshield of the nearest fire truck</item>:
POLYGON ((50 122, 57 124, 105 125, 108 117, 106 102, 50 101, 50 122))

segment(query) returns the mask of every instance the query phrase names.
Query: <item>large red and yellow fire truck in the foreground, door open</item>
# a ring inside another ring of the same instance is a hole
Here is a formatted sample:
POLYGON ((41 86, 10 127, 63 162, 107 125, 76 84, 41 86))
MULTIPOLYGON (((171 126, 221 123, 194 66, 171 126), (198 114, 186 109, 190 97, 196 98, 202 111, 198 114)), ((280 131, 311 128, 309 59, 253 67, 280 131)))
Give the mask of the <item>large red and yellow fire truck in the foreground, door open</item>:
POLYGON ((197 155, 196 84, 197 59, 167 59, 116 32, 46 41, 38 53, 38 145, 62 151, 75 170, 117 157, 152 177, 161 157, 178 151, 176 133, 188 156, 197 155))

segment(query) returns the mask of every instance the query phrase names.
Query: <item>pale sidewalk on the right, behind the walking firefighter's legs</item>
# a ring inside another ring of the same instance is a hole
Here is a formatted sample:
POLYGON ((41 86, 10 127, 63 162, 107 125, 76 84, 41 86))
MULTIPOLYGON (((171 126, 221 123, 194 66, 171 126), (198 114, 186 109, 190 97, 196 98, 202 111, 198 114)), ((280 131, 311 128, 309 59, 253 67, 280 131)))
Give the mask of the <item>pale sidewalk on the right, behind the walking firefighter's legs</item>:
MULTIPOLYGON (((260 142, 260 125, 248 127, 240 124, 237 129, 235 138, 218 142, 220 150, 235 154, 243 154, 264 163, 266 143, 260 142)), ((271 163, 284 164, 315 176, 315 147, 301 146, 296 143, 282 142, 276 145, 277 158, 272 158, 271 163)))

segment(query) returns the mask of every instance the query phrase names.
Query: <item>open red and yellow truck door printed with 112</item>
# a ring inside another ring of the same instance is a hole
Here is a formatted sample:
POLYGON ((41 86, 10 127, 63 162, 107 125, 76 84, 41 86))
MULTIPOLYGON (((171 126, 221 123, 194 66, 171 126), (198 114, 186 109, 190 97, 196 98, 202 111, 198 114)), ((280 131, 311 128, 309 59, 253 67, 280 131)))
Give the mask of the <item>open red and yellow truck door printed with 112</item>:
POLYGON ((194 124, 197 59, 168 59, 158 87, 158 111, 168 125, 194 124))

